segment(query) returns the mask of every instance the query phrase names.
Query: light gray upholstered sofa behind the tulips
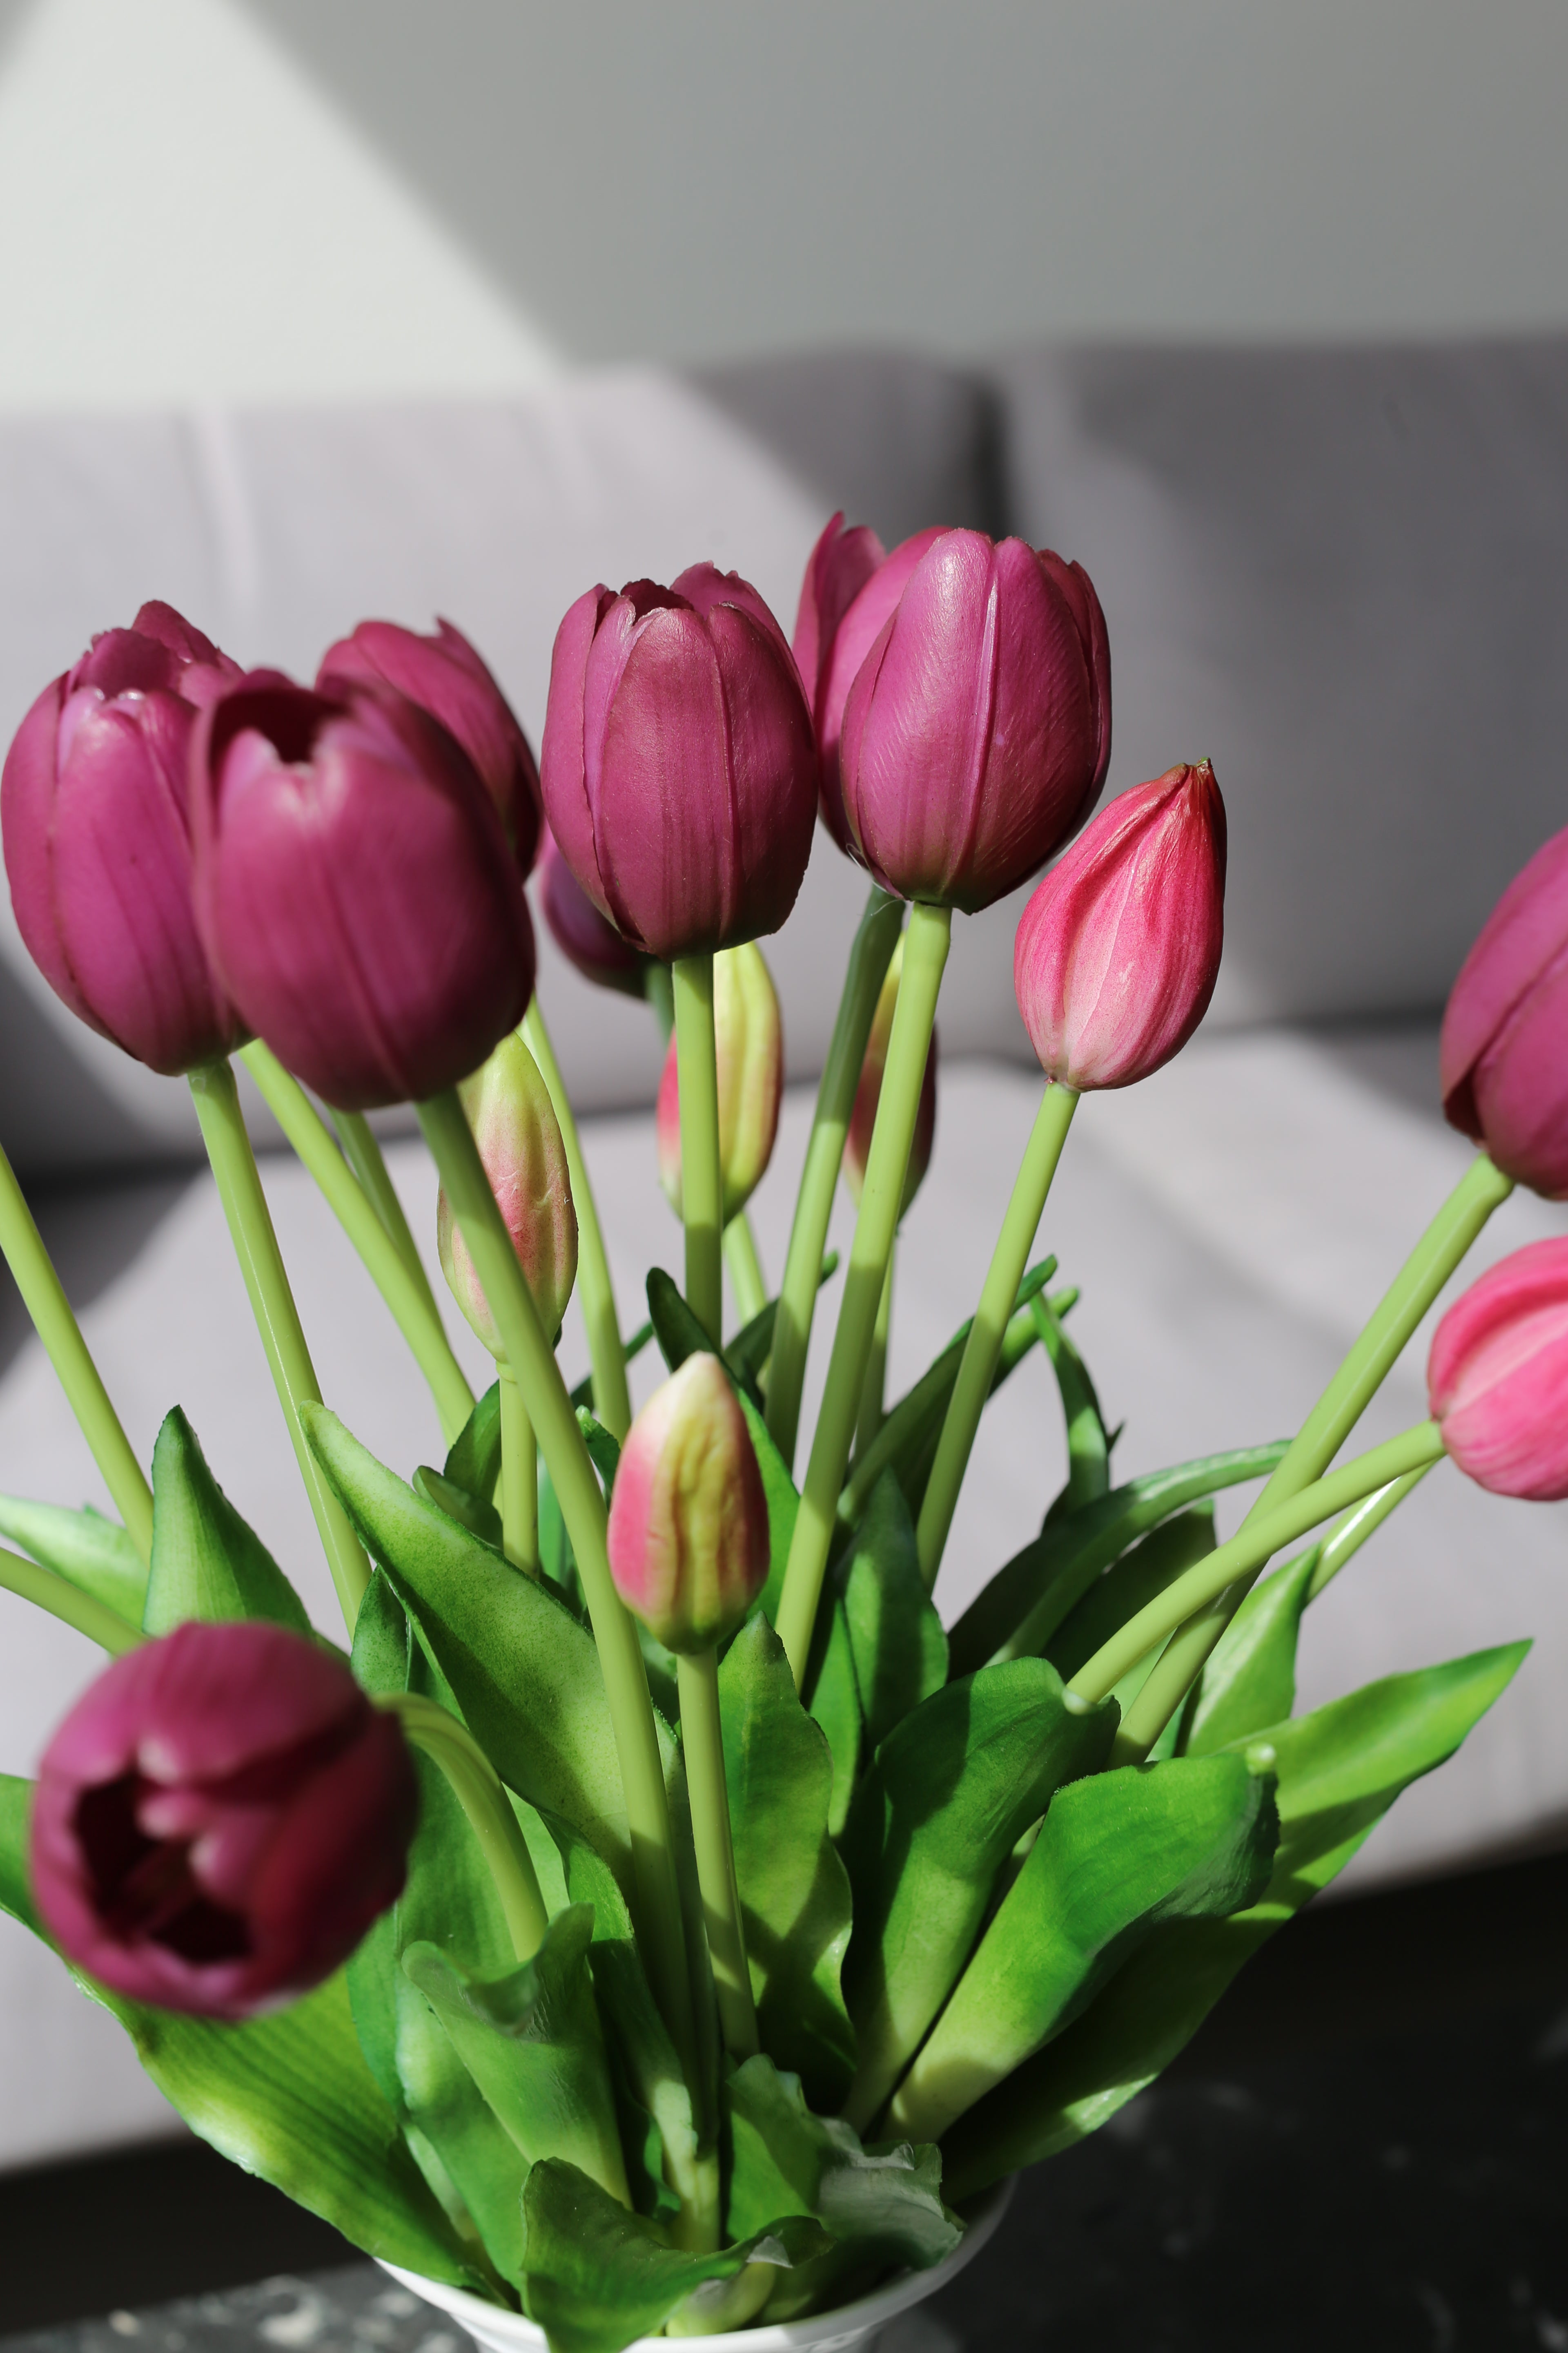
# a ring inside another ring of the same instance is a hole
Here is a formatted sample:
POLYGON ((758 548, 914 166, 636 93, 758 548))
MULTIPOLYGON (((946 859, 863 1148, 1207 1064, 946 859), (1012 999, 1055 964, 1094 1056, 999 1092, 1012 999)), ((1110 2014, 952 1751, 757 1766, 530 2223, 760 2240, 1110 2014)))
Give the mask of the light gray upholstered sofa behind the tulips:
MULTIPOLYGON (((0 727, 94 628, 169 598, 299 673, 362 614, 456 619, 538 736, 555 621, 592 579, 743 569, 792 621, 844 506, 893 541, 1018 529, 1091 569, 1114 664, 1112 791, 1208 753, 1229 805, 1229 944, 1194 1045, 1077 1120, 1046 1219, 1131 1473, 1288 1431, 1465 1167, 1436 1113, 1443 993, 1497 889, 1568 819, 1568 341, 1427 351, 1046 351, 983 374, 813 358, 616 372, 510 405, 0 426, 0 727)), ((766 953, 790 1094, 755 1221, 776 1273, 863 878, 820 835, 766 953)), ((893 1384, 971 1308, 1037 1075, 1011 998, 1018 904, 954 927, 938 1146, 910 1214, 893 1384)), ((543 941, 541 1005, 611 1228, 623 1313, 677 1264, 642 1007, 543 941)), ((268 1122, 256 1111, 263 1144, 268 1122)), ((24 1172, 143 1454, 181 1402, 219 1478, 331 1593, 179 1082, 82 1031, 0 918, 0 1141, 24 1172)), ((416 1233, 433 1176, 388 1122, 416 1233)), ((266 1181, 324 1395, 411 1468, 428 1398, 299 1167, 266 1181)), ((1512 1200, 1476 1259, 1563 1228, 1512 1200)), ((456 1315, 451 1318, 456 1327, 456 1315)), ((456 1329, 475 1379, 465 1329, 456 1329)), ((569 1322, 564 1355, 581 1367, 569 1322)), ((0 1492, 101 1499, 14 1294, 0 1492)), ((1422 1412, 1422 1341, 1368 1417, 1422 1412)), ((820 1379, 820 1351, 816 1374, 820 1379)), ((938 1600, 954 1614, 1032 1529, 1060 1454, 1039 1365, 999 1400, 938 1600)), ((1239 1504, 1222 1513, 1229 1525, 1239 1504)), ((1441 1468, 1314 1609, 1307 1699, 1535 1633, 1458 1765, 1418 1786, 1349 1885, 1559 1838, 1568 1821, 1568 1522, 1441 1468)), ((0 1769, 26 1772, 94 1654, 0 1595, 0 1769)), ((0 1920, 0 2165, 167 2122, 118 2028, 0 1920)))

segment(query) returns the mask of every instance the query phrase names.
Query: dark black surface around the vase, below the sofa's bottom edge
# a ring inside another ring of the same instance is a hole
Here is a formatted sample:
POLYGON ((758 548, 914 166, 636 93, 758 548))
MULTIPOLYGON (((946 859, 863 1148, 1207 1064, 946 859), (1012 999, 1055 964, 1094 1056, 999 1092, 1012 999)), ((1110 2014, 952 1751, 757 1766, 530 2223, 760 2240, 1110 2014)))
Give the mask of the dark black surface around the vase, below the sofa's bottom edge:
MULTIPOLYGON (((0 2332, 5 2353, 468 2353, 193 2144, 0 2181, 0 2332)), ((1568 1857, 1307 1913, 884 2339, 1034 2346, 1568 2353, 1568 1857)))

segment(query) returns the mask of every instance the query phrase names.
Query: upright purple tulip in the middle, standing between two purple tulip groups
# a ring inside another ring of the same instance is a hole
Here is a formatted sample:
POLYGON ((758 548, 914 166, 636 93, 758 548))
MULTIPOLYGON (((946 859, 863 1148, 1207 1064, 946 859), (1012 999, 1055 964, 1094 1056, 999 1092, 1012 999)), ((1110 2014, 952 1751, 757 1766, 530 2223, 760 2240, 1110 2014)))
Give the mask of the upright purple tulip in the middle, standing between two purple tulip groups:
POLYGON ((571 873, 644 955, 776 932, 811 856, 816 751, 757 591, 693 565, 581 595, 550 661, 543 791, 571 873))

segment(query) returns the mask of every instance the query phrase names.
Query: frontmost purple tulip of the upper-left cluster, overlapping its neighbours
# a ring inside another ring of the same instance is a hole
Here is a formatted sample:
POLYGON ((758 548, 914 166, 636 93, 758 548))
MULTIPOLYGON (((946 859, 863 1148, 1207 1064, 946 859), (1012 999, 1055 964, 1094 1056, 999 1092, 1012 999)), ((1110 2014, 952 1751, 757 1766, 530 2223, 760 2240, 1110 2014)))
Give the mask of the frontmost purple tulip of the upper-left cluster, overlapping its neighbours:
POLYGON ((388 687, 256 671, 190 760, 202 936, 277 1059, 339 1111, 477 1071, 534 993, 534 927, 456 739, 388 687))

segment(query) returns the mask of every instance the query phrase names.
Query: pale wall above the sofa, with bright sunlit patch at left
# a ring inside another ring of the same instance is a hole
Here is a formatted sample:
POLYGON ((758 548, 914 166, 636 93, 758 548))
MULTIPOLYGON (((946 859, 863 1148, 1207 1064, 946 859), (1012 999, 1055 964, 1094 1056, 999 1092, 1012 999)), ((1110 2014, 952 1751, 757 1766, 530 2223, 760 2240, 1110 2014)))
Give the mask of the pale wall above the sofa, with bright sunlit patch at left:
POLYGON ((1561 0, 0 0, 0 407, 1568 325, 1561 0))

